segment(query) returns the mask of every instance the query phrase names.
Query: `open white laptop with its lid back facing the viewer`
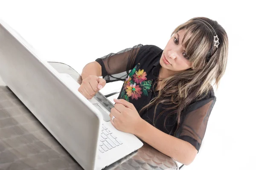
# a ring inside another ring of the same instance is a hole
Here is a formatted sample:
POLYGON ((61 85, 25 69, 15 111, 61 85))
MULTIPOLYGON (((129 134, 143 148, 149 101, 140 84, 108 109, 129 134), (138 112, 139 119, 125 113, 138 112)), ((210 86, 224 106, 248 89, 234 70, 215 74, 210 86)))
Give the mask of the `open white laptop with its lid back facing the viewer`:
POLYGON ((109 121, 113 104, 101 93, 86 99, 79 84, 58 73, 0 20, 0 76, 85 170, 101 170, 143 143, 109 121))

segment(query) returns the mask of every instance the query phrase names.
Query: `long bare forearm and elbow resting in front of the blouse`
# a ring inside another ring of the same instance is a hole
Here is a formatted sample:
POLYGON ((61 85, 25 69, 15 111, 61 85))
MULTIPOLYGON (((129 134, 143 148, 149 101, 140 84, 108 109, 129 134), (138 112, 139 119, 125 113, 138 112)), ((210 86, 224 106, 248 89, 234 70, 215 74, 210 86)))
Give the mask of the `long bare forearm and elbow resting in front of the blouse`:
POLYGON ((168 135, 145 120, 139 126, 134 135, 160 152, 185 165, 190 164, 195 159, 197 150, 189 142, 168 135))

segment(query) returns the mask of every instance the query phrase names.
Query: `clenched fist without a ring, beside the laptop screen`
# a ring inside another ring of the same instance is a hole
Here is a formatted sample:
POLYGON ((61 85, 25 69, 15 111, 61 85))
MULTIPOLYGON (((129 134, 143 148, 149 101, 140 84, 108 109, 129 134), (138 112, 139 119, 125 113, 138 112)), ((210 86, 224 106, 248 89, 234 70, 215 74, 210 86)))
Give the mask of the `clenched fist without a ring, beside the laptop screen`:
POLYGON ((93 96, 106 85, 106 80, 97 76, 88 76, 83 79, 78 91, 86 97, 91 99, 93 96))

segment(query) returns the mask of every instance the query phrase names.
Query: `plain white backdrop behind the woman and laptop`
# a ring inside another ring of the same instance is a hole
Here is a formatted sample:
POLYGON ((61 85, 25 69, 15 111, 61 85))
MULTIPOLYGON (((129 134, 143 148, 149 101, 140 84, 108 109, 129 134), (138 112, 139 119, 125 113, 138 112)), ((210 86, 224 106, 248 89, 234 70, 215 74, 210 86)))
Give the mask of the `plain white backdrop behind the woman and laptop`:
POLYGON ((218 21, 229 38, 227 70, 201 150, 182 169, 255 169, 256 14, 253 3, 240 2, 0 0, 0 18, 42 59, 80 74, 88 62, 140 43, 163 49, 172 31, 192 17, 218 21))

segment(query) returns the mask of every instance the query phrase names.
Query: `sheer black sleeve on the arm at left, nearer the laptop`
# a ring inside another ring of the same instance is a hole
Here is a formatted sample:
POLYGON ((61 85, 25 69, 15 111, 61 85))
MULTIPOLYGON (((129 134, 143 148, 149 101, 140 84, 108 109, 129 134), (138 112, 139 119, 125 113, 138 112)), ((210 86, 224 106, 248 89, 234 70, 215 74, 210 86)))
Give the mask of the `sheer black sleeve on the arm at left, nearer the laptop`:
POLYGON ((106 82, 125 81, 128 71, 134 68, 134 60, 142 46, 142 44, 135 45, 96 59, 95 61, 102 66, 102 77, 106 82))

